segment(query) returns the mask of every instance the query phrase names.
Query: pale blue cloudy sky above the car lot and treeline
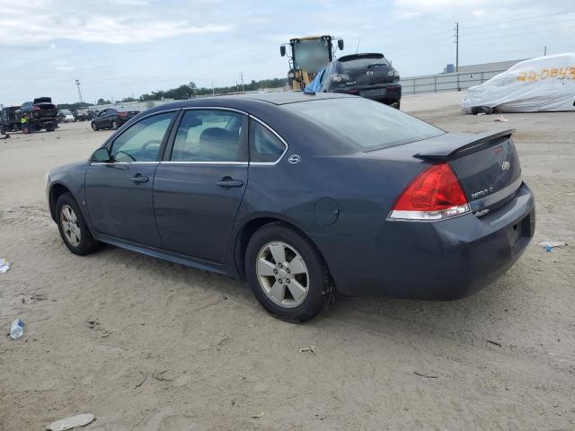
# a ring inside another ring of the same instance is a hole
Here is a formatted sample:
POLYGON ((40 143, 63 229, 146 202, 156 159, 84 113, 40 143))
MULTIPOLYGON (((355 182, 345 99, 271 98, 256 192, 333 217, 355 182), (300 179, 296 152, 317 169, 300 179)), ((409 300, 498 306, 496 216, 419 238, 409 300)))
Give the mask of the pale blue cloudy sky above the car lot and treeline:
POLYGON ((0 102, 119 100, 194 81, 282 77, 279 44, 332 34, 403 76, 575 51, 575 0, 0 0, 0 102))

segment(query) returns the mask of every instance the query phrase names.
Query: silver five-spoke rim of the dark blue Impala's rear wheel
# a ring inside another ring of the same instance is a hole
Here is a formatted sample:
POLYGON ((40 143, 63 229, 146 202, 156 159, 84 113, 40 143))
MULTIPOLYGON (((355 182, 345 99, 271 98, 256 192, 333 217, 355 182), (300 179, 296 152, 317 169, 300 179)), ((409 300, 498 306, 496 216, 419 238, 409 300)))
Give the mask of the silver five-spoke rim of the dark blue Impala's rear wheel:
POLYGON ((309 273, 305 260, 286 242, 268 242, 256 261, 261 290, 273 303, 294 308, 309 293, 309 273))

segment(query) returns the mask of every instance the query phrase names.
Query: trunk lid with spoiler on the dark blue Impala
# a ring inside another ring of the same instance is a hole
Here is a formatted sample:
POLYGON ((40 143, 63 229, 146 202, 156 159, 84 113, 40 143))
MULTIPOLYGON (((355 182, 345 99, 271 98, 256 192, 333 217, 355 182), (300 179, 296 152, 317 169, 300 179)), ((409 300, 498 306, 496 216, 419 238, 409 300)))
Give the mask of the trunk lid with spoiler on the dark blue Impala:
POLYGON ((429 162, 449 163, 473 213, 485 216, 509 202, 521 186, 514 131, 446 134, 389 148, 388 154, 410 152, 429 162))

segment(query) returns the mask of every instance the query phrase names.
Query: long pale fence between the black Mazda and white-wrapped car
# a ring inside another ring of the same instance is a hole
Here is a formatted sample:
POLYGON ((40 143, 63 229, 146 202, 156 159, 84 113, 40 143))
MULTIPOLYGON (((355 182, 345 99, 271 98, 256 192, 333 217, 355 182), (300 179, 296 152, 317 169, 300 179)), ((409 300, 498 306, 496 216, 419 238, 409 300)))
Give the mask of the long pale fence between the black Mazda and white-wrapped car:
POLYGON ((454 74, 421 75, 401 80, 403 94, 419 92, 456 92, 466 90, 473 85, 483 84, 505 70, 481 72, 458 72, 454 74))

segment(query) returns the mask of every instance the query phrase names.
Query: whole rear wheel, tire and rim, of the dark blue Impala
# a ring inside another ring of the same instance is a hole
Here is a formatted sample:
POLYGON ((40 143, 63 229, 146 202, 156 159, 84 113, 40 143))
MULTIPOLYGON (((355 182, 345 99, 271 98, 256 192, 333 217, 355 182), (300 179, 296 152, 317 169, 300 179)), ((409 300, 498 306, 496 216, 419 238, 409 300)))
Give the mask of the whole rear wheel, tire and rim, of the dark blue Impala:
POLYGON ((322 255, 313 242, 286 224, 266 224, 252 235, 245 267, 253 295, 281 320, 308 321, 335 298, 322 255))

